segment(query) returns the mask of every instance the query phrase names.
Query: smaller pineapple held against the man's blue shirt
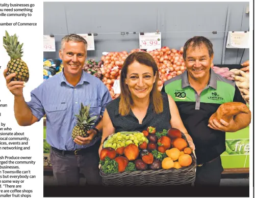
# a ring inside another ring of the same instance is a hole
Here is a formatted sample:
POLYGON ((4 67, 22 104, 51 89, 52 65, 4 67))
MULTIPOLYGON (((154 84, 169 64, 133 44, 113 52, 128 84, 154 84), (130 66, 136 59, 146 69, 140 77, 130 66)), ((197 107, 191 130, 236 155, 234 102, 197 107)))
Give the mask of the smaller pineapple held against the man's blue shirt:
POLYGON ((81 103, 81 108, 79 115, 76 116, 76 125, 72 131, 72 138, 74 139, 77 136, 87 137, 87 131, 91 128, 91 125, 94 125, 94 120, 97 119, 97 116, 90 117, 90 105, 84 106, 81 103))

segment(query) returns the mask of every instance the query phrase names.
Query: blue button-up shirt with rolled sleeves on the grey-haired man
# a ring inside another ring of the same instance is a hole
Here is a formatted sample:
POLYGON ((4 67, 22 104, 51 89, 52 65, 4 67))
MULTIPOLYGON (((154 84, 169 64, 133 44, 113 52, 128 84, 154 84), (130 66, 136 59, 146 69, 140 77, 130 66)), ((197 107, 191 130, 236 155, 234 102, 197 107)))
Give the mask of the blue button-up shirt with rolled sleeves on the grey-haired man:
POLYGON ((46 114, 47 143, 60 150, 72 151, 89 147, 99 140, 94 139, 83 146, 73 142, 71 133, 81 102, 83 105, 90 104, 90 114, 97 116, 97 125, 99 116, 103 116, 106 105, 111 100, 105 84, 91 74, 83 71, 79 83, 74 87, 67 82, 64 73, 60 72, 34 89, 31 92, 31 101, 27 104, 38 120, 46 114))

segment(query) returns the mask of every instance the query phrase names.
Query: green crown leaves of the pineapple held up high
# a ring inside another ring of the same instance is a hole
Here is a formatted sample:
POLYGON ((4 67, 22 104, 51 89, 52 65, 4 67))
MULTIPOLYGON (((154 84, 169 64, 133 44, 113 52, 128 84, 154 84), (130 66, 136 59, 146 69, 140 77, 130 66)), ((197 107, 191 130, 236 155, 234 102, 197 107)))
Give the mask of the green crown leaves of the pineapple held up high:
POLYGON ((22 44, 19 44, 18 37, 16 34, 10 36, 7 31, 5 31, 5 36, 3 37, 4 47, 11 57, 11 59, 19 59, 22 57, 22 44))

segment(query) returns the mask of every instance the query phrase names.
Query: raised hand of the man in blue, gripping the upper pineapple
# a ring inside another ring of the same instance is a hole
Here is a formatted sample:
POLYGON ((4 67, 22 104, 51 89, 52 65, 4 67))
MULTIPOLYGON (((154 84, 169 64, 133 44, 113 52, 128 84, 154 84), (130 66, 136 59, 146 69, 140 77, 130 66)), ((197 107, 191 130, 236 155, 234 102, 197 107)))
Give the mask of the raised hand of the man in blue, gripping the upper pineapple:
POLYGON ((6 79, 6 86, 8 90, 14 95, 14 96, 23 96, 23 87, 24 82, 22 81, 11 81, 13 77, 16 76, 16 73, 12 73, 10 75, 7 75, 8 69, 4 70, 4 76, 6 79))

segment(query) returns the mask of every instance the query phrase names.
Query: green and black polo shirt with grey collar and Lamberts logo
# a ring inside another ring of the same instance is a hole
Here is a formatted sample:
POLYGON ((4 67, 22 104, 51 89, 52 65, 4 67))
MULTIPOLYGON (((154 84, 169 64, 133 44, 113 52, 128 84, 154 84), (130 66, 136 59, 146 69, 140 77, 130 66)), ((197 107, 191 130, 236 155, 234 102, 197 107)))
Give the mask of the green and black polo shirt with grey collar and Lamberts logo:
POLYGON ((213 160, 225 151, 225 132, 208 127, 209 118, 225 102, 245 101, 232 80, 211 69, 207 87, 198 95, 190 86, 185 71, 164 83, 162 92, 169 94, 178 107, 183 124, 193 138, 197 163, 213 160))

